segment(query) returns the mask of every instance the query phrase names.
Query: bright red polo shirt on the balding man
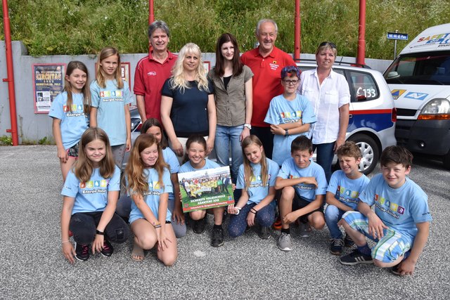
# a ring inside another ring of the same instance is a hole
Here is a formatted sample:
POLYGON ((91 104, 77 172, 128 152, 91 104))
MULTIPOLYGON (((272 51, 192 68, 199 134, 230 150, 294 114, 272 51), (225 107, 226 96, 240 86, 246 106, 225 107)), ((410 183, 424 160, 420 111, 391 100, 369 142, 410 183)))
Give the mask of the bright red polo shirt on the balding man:
POLYGON ((283 93, 281 86, 281 69, 287 65, 295 65, 293 58, 284 51, 274 50, 263 58, 259 48, 243 53, 240 57, 244 65, 252 69, 253 74, 253 112, 252 126, 269 127, 264 122, 270 100, 283 93))

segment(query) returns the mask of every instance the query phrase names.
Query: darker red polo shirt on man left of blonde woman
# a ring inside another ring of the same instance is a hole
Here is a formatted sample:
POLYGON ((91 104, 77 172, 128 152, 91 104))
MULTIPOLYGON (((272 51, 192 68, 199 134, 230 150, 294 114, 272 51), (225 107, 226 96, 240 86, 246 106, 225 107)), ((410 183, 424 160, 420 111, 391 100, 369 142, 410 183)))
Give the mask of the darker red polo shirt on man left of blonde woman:
POLYGON ((161 90, 167 78, 172 74, 176 56, 167 51, 164 63, 153 59, 152 53, 139 60, 134 72, 134 94, 143 96, 146 103, 146 116, 161 122, 161 90))

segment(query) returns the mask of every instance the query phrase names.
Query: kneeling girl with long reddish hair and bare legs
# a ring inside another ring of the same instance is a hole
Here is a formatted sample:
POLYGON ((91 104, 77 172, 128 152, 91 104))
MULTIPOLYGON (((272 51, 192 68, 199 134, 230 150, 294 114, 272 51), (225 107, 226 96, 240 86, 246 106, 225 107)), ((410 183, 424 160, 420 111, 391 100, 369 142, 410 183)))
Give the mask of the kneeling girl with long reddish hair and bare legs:
POLYGON ((129 223, 134 233, 134 261, 143 261, 143 249, 155 246, 158 259, 165 266, 172 266, 178 256, 167 208, 169 193, 173 192, 167 167, 158 140, 148 133, 138 136, 125 169, 127 192, 133 200, 129 223))

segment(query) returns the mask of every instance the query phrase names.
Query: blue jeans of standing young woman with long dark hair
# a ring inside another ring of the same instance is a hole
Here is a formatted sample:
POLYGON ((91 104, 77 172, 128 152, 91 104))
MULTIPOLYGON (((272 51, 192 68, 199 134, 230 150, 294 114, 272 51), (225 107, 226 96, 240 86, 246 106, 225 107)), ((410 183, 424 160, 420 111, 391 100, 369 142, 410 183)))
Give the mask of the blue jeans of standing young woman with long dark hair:
POLYGON ((214 139, 214 150, 216 150, 217 162, 223 166, 229 166, 229 149, 231 145, 231 177, 236 180, 240 164, 243 163, 242 148, 240 147, 240 133, 244 126, 221 126, 216 127, 216 138, 214 139))

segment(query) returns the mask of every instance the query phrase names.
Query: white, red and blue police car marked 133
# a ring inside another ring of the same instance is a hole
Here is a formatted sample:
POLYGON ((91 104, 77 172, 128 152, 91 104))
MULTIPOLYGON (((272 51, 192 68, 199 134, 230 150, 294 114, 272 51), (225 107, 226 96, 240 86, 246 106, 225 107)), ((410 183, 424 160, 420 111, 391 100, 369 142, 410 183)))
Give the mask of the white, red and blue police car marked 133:
MULTIPOLYGON (((305 71, 317 65, 315 61, 300 60, 297 67, 305 71)), ((367 66, 335 62, 333 71, 344 75, 349 84, 351 102, 346 140, 359 146, 363 155, 359 169, 369 174, 381 152, 397 144, 394 136, 396 112, 390 89, 383 74, 367 66)))

